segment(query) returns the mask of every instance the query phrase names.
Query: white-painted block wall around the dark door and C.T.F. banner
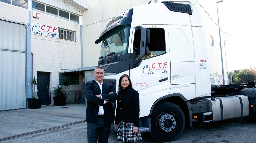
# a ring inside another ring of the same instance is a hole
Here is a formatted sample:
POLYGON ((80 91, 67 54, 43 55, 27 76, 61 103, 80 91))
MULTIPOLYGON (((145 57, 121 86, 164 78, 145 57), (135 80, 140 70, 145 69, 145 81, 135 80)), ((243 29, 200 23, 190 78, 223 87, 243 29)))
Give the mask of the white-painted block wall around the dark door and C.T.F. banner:
MULTIPOLYGON (((33 12, 31 12, 30 15, 31 21, 33 22, 76 31, 76 41, 31 34, 31 52, 33 52, 33 76, 37 78, 38 71, 50 72, 51 104, 54 104, 54 95, 52 93, 53 87, 59 85, 59 72, 81 68, 80 27, 73 22, 62 20, 57 17, 42 13, 40 13, 39 19, 34 19, 32 14, 33 12)), ((81 74, 79 76, 81 80, 81 74)), ((71 98, 74 99, 74 94, 71 94, 72 91, 81 89, 81 85, 70 85, 69 89, 66 89, 66 92, 68 92, 66 104, 73 103, 71 98)))

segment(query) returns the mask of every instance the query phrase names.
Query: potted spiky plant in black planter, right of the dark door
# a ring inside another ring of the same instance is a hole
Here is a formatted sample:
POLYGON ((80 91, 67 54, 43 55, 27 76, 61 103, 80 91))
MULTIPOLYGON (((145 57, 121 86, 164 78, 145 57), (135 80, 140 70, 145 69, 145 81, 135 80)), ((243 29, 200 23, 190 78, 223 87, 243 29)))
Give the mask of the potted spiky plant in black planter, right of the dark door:
POLYGON ((69 89, 69 85, 71 85, 71 78, 67 78, 64 77, 64 79, 62 79, 62 82, 60 84, 60 86, 56 86, 56 87, 53 87, 53 94, 55 95, 53 97, 53 100, 54 100, 54 105, 56 106, 62 106, 62 105, 66 105, 66 95, 67 93, 65 93, 65 90, 66 88, 69 89))

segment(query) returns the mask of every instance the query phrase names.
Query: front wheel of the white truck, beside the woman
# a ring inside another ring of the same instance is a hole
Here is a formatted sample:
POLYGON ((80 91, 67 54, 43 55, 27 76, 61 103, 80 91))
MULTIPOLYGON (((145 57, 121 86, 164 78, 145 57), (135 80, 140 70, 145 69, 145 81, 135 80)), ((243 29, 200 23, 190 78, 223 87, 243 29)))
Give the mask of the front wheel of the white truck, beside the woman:
POLYGON ((151 136, 158 142, 174 141, 185 128, 185 116, 179 106, 162 102, 151 116, 151 136))

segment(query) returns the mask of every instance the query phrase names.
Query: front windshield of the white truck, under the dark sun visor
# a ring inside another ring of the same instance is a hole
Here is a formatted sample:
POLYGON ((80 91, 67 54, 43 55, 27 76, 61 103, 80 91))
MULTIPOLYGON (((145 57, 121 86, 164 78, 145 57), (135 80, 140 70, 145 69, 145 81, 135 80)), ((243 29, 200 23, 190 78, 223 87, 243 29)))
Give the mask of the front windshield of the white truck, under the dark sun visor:
POLYGON ((109 54, 122 55, 127 53, 128 40, 130 33, 130 25, 121 25, 113 30, 110 30, 103 36, 100 57, 107 58, 109 54))

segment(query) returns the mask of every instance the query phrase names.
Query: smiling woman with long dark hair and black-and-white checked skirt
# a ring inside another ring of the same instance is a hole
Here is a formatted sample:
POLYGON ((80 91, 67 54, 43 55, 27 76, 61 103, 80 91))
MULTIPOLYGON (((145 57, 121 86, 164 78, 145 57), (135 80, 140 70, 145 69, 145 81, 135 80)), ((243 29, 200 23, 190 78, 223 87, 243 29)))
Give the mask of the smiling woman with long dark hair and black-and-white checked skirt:
POLYGON ((127 74, 122 75, 118 83, 115 129, 118 131, 117 141, 142 141, 139 131, 139 93, 133 89, 127 74))

